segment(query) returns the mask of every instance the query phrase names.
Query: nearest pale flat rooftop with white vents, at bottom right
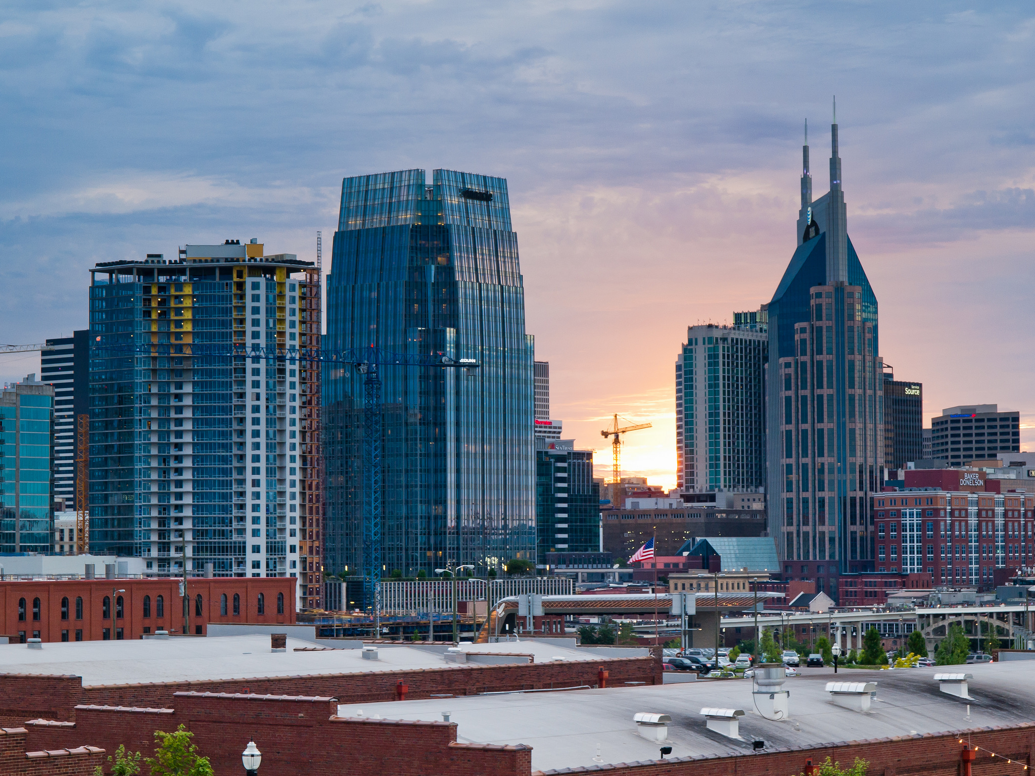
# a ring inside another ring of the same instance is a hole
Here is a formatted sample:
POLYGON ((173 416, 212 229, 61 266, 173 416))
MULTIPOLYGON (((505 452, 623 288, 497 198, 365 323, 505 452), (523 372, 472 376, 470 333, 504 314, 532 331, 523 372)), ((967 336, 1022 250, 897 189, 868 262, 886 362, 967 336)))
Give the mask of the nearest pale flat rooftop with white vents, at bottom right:
MULTIPOLYGON (((963 668, 964 666, 959 666, 963 668)), ((512 693, 378 704, 343 704, 338 716, 441 720, 450 712, 457 741, 478 744, 526 744, 532 747, 532 770, 592 768, 601 764, 654 760, 661 744, 637 733, 639 712, 669 714, 672 757, 750 755, 752 739, 773 747, 815 746, 863 739, 944 733, 986 725, 1009 725, 1035 719, 1035 660, 968 665, 967 702, 942 693, 934 675, 939 668, 841 670, 836 679, 877 682, 867 713, 831 702, 826 683, 831 668, 804 669, 789 678, 790 718, 772 721, 753 703, 750 680, 701 680, 683 684, 512 693), (968 707, 969 704, 969 707, 968 707), (705 727, 701 710, 743 710, 741 740, 705 727), (968 719, 968 713, 970 719, 968 719), (600 762, 595 762, 597 746, 600 762)), ((748 768, 749 770, 749 768, 748 768)))

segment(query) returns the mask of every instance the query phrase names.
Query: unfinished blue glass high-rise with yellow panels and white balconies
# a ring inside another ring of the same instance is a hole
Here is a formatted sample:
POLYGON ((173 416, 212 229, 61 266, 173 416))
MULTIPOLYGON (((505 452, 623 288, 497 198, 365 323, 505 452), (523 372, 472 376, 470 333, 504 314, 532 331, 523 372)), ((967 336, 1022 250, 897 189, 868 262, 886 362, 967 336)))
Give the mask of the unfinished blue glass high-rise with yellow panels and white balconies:
POLYGON ((228 240, 90 273, 90 549, 319 605, 320 371, 273 356, 317 340, 317 267, 228 240))

